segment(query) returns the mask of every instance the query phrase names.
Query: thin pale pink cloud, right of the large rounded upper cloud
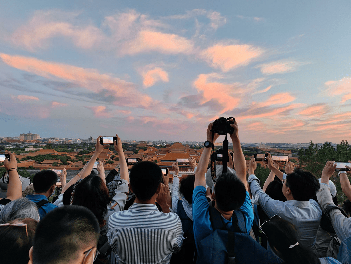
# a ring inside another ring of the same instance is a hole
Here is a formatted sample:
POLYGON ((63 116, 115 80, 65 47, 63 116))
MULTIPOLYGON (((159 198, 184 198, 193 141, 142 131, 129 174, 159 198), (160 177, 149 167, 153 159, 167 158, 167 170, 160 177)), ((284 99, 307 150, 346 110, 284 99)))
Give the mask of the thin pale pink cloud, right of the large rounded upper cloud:
POLYGON ((260 64, 254 68, 261 68, 261 73, 271 75, 274 73, 287 73, 298 70, 299 66, 310 64, 310 62, 300 62, 294 60, 278 60, 266 64, 260 64))

